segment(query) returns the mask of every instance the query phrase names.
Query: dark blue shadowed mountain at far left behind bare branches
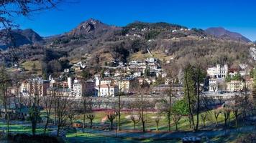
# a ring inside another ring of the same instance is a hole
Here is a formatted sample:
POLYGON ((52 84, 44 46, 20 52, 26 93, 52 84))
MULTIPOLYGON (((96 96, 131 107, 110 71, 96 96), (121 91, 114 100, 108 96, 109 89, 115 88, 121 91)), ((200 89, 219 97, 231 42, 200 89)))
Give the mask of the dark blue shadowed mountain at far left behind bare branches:
POLYGON ((14 43, 11 43, 10 40, 4 42, 6 36, 1 37, 0 45, 2 49, 6 48, 8 44, 12 44, 14 46, 22 46, 24 44, 42 43, 44 41, 42 37, 32 29, 14 29, 12 30, 10 36, 12 37, 12 41, 14 41, 14 43))

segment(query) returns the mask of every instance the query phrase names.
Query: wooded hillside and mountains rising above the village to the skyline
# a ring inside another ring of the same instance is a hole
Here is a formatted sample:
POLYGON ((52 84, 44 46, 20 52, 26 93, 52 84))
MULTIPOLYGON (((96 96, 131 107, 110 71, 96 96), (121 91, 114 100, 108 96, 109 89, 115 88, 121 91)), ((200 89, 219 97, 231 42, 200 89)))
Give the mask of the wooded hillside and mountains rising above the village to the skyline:
MULTIPOLYGON (((55 59, 68 59, 70 62, 82 60, 90 66, 98 66, 113 60, 127 62, 143 59, 150 49, 152 56, 160 61, 171 60, 178 65, 186 64, 188 59, 190 62, 201 61, 205 68, 216 63, 230 66, 252 63, 249 52, 252 45, 248 43, 250 40, 223 28, 204 31, 178 24, 141 21, 120 27, 88 19, 67 33, 44 39, 31 29, 13 31, 13 34, 20 37, 16 41, 18 45, 34 44, 37 41, 43 43, 2 53, 6 61, 14 61, 13 53, 16 59, 40 60, 44 51, 51 49, 58 52, 55 59)), ((3 56, 0 53, 0 57, 3 56)))

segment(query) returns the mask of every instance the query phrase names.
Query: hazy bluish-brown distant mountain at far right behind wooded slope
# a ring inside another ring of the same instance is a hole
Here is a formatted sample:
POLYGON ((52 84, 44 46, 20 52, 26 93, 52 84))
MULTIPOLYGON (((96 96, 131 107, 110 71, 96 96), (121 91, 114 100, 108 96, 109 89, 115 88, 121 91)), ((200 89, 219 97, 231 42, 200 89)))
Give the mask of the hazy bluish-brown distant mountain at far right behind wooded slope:
POLYGON ((206 34, 210 34, 221 39, 251 42, 250 39, 247 39, 245 36, 242 36, 242 34, 228 31, 227 29, 224 29, 222 27, 211 27, 209 29, 206 29, 205 32, 206 34))

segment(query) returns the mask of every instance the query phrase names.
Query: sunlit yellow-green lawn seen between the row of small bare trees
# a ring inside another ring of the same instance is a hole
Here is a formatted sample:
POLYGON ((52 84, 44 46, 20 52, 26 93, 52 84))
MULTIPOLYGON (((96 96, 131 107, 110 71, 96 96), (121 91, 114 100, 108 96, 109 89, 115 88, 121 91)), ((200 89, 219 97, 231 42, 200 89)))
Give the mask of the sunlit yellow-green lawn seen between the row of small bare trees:
MULTIPOLYGON (((214 118, 214 114, 213 112, 209 112, 207 113, 208 117, 206 119, 206 127, 209 126, 214 126, 215 125, 215 118, 214 118)), ((95 119, 93 120, 93 124, 96 126, 101 126, 101 125, 107 125, 109 124, 109 121, 106 119, 106 122, 101 122, 101 119, 106 118, 107 113, 106 112, 95 112, 95 119)), ((130 114, 127 112, 122 112, 121 114, 121 124, 122 124, 122 129, 133 129, 133 122, 131 119, 128 118, 130 114)), ((159 116, 159 115, 158 115, 159 116)), ((231 127, 234 127, 234 115, 231 114, 231 127)), ((157 117, 157 113, 146 113, 145 114, 145 119, 146 119, 146 129, 152 131, 152 130, 156 130, 156 123, 155 123, 155 117, 157 117)), ((168 130, 168 125, 167 125, 167 119, 165 118, 165 114, 160 115, 161 119, 160 119, 160 123, 159 123, 159 129, 160 131, 167 131, 168 130)), ((196 116, 195 116, 196 119, 196 116)), ((76 120, 79 122, 83 121, 83 115, 76 117, 76 120)), ((115 121, 115 120, 114 120, 115 121)), ((86 123, 88 123, 89 120, 86 119, 86 123)), ((218 122, 219 124, 224 124, 224 114, 219 115, 218 117, 218 122), (222 122, 221 122, 222 120, 222 122)), ((201 117, 199 116, 199 127, 200 128, 204 128, 203 127, 203 122, 201 120, 201 117)), ((142 124, 141 122, 136 124, 136 129, 142 129, 142 124)), ((189 122, 188 122, 188 117, 182 117, 180 119, 180 122, 178 124, 178 129, 181 131, 191 131, 192 129, 189 127, 189 122)), ((173 121, 171 121, 171 130, 175 130, 175 124, 173 121)))

